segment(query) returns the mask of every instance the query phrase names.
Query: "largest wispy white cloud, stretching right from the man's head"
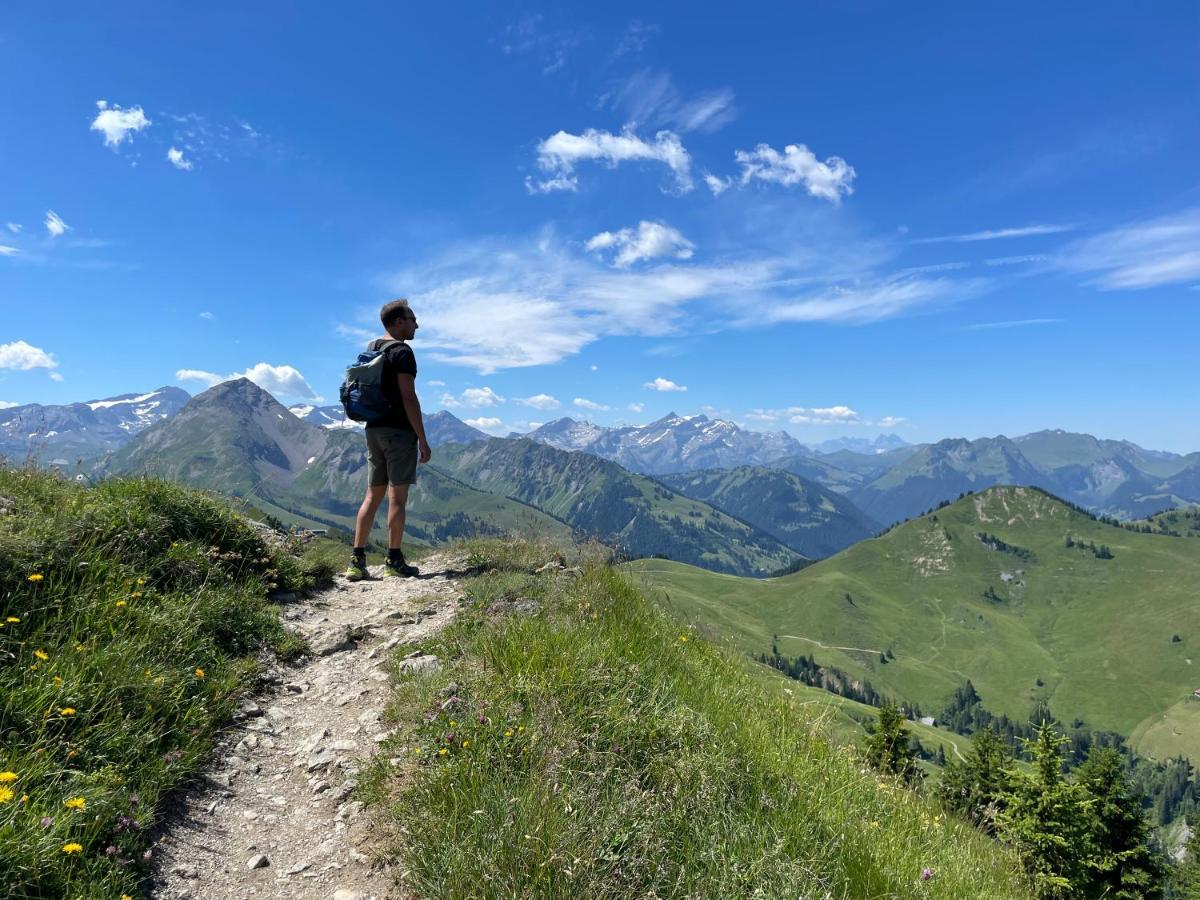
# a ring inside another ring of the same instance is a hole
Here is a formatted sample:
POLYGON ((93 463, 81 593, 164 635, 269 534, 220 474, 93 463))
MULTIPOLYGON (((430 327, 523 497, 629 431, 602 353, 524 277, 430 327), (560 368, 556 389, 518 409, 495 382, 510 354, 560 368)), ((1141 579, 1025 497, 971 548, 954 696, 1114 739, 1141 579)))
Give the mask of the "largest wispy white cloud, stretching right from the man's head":
MULTIPOLYGON (((602 337, 676 335, 697 316, 713 329, 864 324, 959 301, 985 283, 876 275, 883 259, 874 245, 820 232, 769 254, 625 270, 544 230, 523 241, 457 245, 388 276, 380 288, 420 310, 418 340, 433 360, 490 374, 558 362, 602 337), (719 314, 706 317, 709 306, 719 314)), ((374 316, 364 310, 361 320, 374 316)))

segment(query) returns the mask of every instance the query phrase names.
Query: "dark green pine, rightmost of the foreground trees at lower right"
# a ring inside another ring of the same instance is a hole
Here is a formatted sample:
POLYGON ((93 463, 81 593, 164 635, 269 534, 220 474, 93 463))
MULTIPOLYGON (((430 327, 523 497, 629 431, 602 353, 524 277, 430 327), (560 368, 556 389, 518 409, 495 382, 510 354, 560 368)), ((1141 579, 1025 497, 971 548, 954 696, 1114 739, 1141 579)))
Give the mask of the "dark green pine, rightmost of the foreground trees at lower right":
POLYGON ((1111 898, 1162 896, 1163 860, 1151 847, 1150 823, 1141 798, 1130 790, 1121 754, 1092 746, 1075 770, 1075 782, 1094 799, 1092 890, 1111 898))

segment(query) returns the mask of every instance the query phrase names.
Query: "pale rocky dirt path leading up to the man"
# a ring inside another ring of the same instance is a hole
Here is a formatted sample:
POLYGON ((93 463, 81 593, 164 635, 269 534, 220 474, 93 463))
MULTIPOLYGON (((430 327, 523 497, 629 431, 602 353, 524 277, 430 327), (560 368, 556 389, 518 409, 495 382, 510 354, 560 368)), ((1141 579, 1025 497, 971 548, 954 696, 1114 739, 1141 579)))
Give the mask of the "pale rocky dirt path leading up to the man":
MULTIPOLYGON (((461 560, 436 554, 416 578, 337 583, 290 604, 284 618, 312 656, 268 673, 212 764, 158 839, 151 896, 400 898, 368 858, 370 824, 350 799, 359 769, 388 737, 385 664, 392 648, 450 622, 461 560)), ((436 667, 412 654, 400 666, 436 667)))

